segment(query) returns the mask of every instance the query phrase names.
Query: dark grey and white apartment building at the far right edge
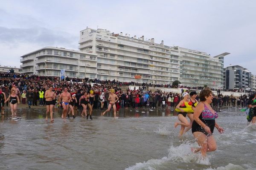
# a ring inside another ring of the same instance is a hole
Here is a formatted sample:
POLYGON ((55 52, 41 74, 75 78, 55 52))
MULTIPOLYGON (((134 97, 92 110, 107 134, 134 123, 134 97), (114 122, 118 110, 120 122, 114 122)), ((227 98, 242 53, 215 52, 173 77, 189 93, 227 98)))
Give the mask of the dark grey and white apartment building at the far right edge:
POLYGON ((224 89, 227 91, 255 91, 255 76, 240 65, 230 65, 224 69, 224 89))

